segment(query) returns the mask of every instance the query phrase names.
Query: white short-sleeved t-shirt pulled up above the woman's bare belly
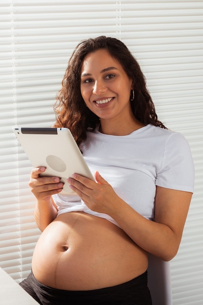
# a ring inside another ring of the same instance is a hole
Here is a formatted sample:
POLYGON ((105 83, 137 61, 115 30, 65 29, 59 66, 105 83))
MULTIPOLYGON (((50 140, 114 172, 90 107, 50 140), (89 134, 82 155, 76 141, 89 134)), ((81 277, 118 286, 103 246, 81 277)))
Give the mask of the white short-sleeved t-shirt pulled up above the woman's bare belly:
MULTIPOLYGON (((181 133, 147 125, 129 135, 87 132, 80 146, 94 174, 99 171, 114 191, 134 210, 154 218, 156 186, 194 191, 194 164, 188 142, 181 133)), ((84 211, 117 223, 107 214, 90 210, 77 195, 53 196, 58 215, 84 211)))

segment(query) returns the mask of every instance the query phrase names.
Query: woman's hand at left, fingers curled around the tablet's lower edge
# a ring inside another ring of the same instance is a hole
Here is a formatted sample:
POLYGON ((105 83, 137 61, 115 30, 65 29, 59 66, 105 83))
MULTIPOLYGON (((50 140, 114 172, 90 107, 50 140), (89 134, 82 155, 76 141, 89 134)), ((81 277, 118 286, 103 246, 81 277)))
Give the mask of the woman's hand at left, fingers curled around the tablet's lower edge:
POLYGON ((48 202, 51 196, 63 189, 63 183, 59 177, 39 177, 46 171, 45 167, 37 167, 31 171, 29 187, 38 201, 48 202))

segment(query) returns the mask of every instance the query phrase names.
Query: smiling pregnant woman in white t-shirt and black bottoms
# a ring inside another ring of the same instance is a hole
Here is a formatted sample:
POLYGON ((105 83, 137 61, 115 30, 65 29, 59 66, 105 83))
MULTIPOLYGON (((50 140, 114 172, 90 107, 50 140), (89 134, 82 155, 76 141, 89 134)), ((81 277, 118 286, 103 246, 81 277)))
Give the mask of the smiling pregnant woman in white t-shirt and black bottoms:
POLYGON ((150 305, 148 252, 176 255, 193 192, 188 143, 158 120, 138 62, 116 38, 77 45, 55 112, 95 182, 74 173, 75 194, 62 195, 59 177, 33 169, 42 234, 20 285, 41 305, 150 305))

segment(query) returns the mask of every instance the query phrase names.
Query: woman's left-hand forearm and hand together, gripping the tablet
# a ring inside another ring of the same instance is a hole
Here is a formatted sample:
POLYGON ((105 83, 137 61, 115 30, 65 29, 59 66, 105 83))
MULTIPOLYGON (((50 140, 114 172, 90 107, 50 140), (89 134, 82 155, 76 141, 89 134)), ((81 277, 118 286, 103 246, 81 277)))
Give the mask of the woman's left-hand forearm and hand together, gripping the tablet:
POLYGON ((43 231, 57 216, 57 208, 52 195, 62 191, 63 184, 58 177, 39 177, 45 168, 35 168, 31 172, 29 186, 37 199, 35 207, 35 221, 43 231))

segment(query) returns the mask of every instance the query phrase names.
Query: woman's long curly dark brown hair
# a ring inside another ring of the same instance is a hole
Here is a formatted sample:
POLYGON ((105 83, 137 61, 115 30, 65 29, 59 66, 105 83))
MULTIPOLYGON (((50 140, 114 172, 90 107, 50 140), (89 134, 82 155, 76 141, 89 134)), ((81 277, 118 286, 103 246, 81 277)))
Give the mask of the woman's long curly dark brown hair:
POLYGON ((166 129, 157 118, 145 76, 137 60, 122 41, 106 36, 84 40, 74 49, 62 80, 62 88, 56 96, 54 127, 69 128, 79 145, 86 139, 86 131, 93 131, 99 124, 99 117, 86 107, 80 92, 80 74, 84 57, 98 49, 107 50, 132 79, 134 99, 131 101, 131 108, 135 118, 145 125, 152 124, 166 129))

